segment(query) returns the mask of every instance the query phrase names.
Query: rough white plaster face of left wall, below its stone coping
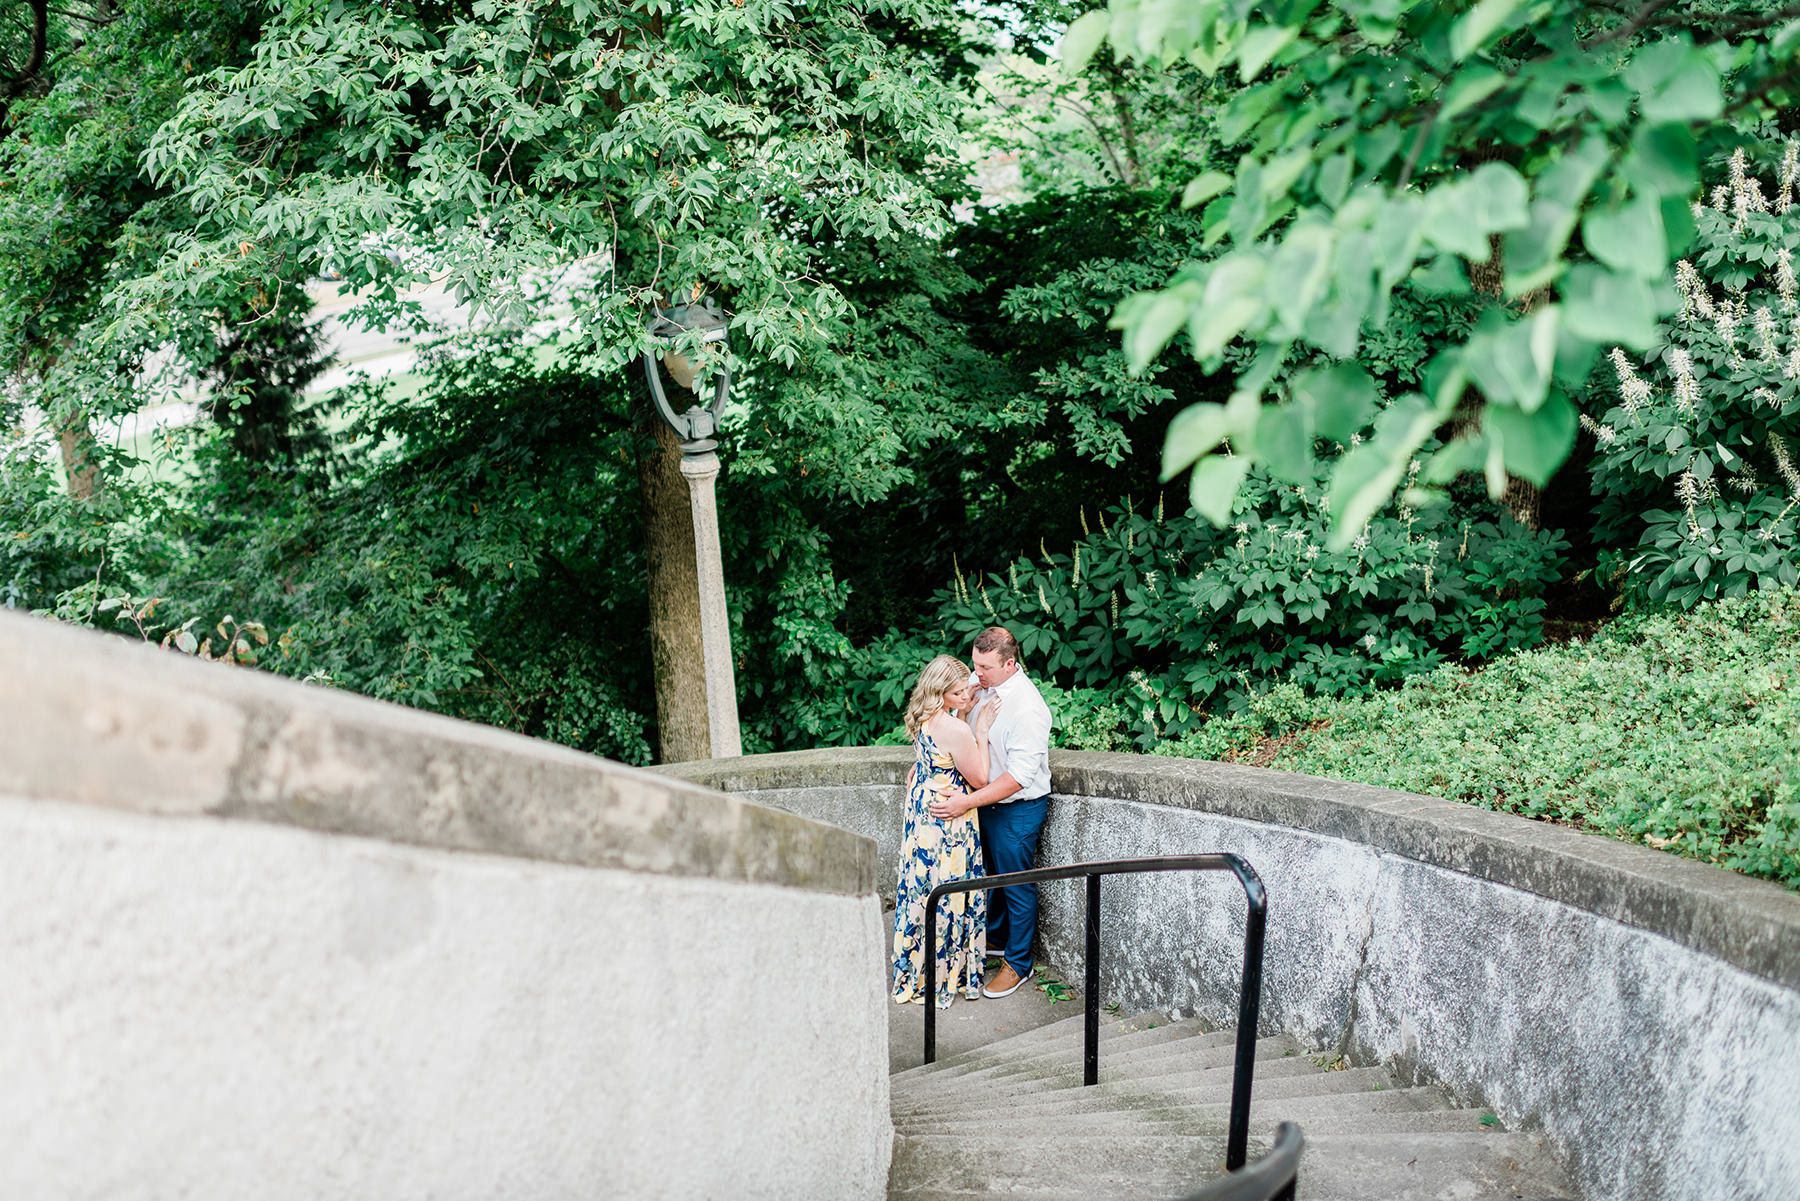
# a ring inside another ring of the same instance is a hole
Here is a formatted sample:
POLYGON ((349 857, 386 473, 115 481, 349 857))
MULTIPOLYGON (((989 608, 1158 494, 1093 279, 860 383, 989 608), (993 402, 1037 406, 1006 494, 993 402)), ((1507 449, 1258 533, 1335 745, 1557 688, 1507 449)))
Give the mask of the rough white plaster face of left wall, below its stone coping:
POLYGON ((0 1197, 880 1197, 875 897, 0 798, 0 1197))

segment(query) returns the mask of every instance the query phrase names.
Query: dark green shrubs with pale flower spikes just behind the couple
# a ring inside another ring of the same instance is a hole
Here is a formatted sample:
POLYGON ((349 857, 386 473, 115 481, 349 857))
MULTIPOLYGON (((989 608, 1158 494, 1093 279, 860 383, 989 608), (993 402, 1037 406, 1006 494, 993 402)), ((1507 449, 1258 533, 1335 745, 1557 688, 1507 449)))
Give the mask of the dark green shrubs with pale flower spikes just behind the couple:
MULTIPOLYGON (((1557 533, 1485 501, 1399 506, 1334 551, 1323 470, 1303 484, 1251 474, 1226 529, 1192 510, 1170 520, 1161 499, 1148 515, 1116 504, 1093 526, 1084 513, 1069 555, 1040 546, 999 573, 958 571, 936 596, 938 645, 1006 625, 1035 675, 1100 690, 1147 747, 1282 681, 1357 693, 1539 639, 1557 533)), ((1082 720, 1075 738, 1114 738, 1098 715, 1082 720)))

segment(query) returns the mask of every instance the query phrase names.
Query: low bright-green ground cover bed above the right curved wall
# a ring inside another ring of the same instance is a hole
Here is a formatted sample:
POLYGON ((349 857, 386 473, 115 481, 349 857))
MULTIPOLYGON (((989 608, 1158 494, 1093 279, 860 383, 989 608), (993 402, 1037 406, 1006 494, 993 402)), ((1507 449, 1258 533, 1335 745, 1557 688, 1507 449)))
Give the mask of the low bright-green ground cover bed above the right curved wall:
POLYGON ((1782 589, 1372 697, 1276 688, 1157 751, 1467 801, 1800 889, 1796 693, 1800 591, 1782 589))

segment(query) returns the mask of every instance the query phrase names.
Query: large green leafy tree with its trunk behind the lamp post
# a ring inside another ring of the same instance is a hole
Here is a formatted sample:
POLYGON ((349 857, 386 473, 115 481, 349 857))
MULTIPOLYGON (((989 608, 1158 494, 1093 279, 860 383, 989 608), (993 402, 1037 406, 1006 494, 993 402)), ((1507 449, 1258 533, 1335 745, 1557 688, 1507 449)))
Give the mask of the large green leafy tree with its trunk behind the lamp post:
MULTIPOLYGON (((713 297, 731 313, 738 429, 769 430, 781 470, 832 465, 869 495, 898 441, 878 394, 832 384, 828 348, 853 321, 835 247, 941 229, 922 166, 952 146, 952 97, 931 83, 929 38, 898 45, 941 16, 918 0, 290 4, 250 65, 209 77, 158 133, 153 175, 198 223, 115 290, 97 344, 142 357, 196 299, 256 308, 265 281, 331 268, 369 322, 405 321, 425 279, 490 321, 558 312, 535 337, 598 380, 632 369, 652 306, 713 297)), ((682 562, 688 513, 657 484, 673 445, 646 436, 639 454, 646 537, 664 546, 650 627, 673 648, 668 718, 700 675, 662 569, 682 562)))

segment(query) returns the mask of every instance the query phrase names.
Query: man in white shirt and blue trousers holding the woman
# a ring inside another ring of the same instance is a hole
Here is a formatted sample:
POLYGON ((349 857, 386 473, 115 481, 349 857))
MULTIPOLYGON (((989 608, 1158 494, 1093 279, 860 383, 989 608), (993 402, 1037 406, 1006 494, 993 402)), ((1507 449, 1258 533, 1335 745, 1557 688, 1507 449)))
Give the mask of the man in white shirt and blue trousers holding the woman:
MULTIPOLYGON (((1049 812, 1049 706, 1019 666, 1019 641, 1003 627, 976 637, 976 722, 981 709, 999 700, 999 717, 988 731, 988 787, 952 792, 931 805, 936 817, 959 817, 977 808, 981 853, 988 875, 1026 871, 1037 859, 1037 839, 1049 812)), ((1031 942, 1037 938, 1037 884, 995 888, 988 897, 988 954, 1004 963, 981 989, 985 998, 1010 996, 1031 974, 1031 942)))

